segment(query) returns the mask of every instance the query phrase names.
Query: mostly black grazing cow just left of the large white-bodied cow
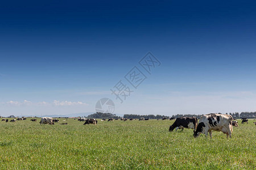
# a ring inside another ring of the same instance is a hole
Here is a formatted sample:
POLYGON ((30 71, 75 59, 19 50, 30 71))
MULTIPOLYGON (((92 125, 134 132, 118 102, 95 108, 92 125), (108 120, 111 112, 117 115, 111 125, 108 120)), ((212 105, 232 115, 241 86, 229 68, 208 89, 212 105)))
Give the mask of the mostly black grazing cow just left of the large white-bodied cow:
POLYGON ((182 129, 188 128, 188 129, 193 129, 193 131, 196 131, 197 128, 197 118, 196 117, 178 117, 174 124, 172 124, 169 128, 169 131, 173 131, 176 128, 177 129, 182 129))

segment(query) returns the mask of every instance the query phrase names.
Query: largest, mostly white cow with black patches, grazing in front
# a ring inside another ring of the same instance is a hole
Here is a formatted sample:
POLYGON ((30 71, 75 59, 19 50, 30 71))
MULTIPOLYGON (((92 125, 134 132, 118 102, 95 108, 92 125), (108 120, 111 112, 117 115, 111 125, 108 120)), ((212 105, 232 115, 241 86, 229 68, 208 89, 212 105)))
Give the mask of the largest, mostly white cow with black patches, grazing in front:
POLYGON ((200 133, 204 133, 207 137, 208 132, 212 138, 212 130, 222 131, 226 137, 231 138, 233 132, 233 117, 229 114, 210 113, 200 117, 199 124, 194 132, 194 137, 199 137, 200 133))

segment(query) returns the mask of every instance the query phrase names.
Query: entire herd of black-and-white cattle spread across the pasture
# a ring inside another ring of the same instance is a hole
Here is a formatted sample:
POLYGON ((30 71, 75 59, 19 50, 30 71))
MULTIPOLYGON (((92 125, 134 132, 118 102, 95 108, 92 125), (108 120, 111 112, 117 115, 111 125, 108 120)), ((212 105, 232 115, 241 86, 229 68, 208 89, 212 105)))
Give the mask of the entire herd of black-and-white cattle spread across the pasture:
MULTIPOLYGON (((21 120, 26 120, 25 117, 17 118, 15 117, 13 120, 10 120, 10 122, 16 122, 21 120), (16 119, 15 119, 16 118, 16 119)), ((162 118, 162 120, 175 120, 174 117, 171 118, 162 118)), ((114 121, 118 120, 118 118, 109 118, 108 121, 114 121)), ((121 118, 121 121, 127 121, 127 118, 121 118)), ((137 118, 130 118, 130 121, 137 120, 137 118)), ((148 118, 141 117, 139 118, 139 121, 146 121, 148 118)), ((247 118, 242 118, 242 124, 247 123, 247 118)), ((9 122, 8 119, 3 118, 2 121, 9 122)), ((30 121, 36 122, 36 119, 31 119, 30 121)), ((63 120, 67 121, 67 120, 63 120)), ((97 124, 97 120, 95 118, 78 118, 78 121, 84 121, 84 125, 86 124, 97 124)), ((103 118, 101 121, 106 121, 105 118, 103 118)), ((40 120, 40 125, 42 124, 49 124, 54 125, 54 123, 59 122, 56 118, 52 117, 42 117, 40 120)), ((256 122, 253 122, 256 125, 256 122)), ((61 125, 67 125, 68 123, 62 123, 61 125)), ((212 138, 212 130, 214 131, 222 131, 222 133, 226 134, 227 138, 231 138, 231 134, 233 132, 233 126, 238 127, 238 122, 236 119, 233 119, 232 116, 229 114, 217 114, 217 113, 210 113, 205 114, 204 116, 201 116, 199 121, 196 117, 178 117, 176 118, 174 124, 172 124, 169 128, 169 131, 173 131, 174 129, 193 129, 193 136, 199 137, 200 133, 205 134, 205 137, 207 137, 208 133, 210 134, 210 138, 212 138)))

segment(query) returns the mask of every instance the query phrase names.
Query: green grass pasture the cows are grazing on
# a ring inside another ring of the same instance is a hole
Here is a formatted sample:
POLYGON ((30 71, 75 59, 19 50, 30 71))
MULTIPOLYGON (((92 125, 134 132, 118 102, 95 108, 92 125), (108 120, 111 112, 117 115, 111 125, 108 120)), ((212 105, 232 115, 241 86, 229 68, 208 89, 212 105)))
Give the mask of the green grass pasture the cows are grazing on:
MULTIPOLYGON (((9 118, 10 120, 10 118, 9 118)), ((256 126, 233 127, 231 139, 169 132, 174 121, 68 119, 68 125, 0 122, 0 169, 255 169, 256 126)))

